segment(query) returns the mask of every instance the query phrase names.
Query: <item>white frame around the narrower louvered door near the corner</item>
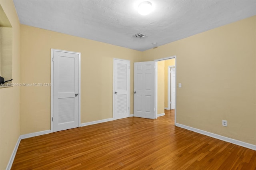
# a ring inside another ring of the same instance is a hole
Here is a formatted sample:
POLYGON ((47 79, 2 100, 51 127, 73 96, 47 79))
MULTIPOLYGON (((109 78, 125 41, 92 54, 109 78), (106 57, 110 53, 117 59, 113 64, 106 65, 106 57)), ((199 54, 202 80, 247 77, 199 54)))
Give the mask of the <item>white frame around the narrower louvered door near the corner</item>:
POLYGON ((130 94, 130 91, 131 91, 131 89, 130 89, 130 87, 131 87, 131 76, 130 76, 130 72, 131 72, 131 67, 130 67, 130 65, 131 65, 131 62, 130 62, 130 60, 127 60, 127 59, 119 59, 119 58, 113 58, 113 120, 115 120, 115 115, 114 115, 114 91, 115 91, 115 87, 114 87, 114 75, 115 75, 115 73, 114 73, 114 61, 115 60, 120 60, 120 61, 128 61, 128 63, 129 63, 129 83, 128 83, 128 85, 129 85, 129 87, 128 87, 128 107, 129 107, 129 109, 128 109, 128 117, 132 117, 130 114, 130 110, 131 110, 131 106, 130 106, 130 97, 131 97, 131 94, 130 94))

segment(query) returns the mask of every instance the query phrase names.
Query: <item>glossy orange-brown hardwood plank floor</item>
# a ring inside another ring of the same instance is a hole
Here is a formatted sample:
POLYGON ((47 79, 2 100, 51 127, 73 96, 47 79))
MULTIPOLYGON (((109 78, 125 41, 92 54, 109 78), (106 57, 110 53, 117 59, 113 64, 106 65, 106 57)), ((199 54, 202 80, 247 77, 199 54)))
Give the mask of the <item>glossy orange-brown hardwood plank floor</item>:
POLYGON ((172 110, 23 139, 20 169, 256 170, 256 151, 175 127, 172 110))

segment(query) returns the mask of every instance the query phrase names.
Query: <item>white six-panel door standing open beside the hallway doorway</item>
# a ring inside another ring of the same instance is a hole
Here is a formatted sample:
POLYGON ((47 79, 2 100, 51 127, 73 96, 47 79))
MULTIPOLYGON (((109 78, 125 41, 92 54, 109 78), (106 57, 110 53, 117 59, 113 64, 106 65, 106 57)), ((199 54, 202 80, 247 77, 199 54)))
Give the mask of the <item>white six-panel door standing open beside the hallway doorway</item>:
POLYGON ((134 63, 134 117, 155 117, 155 62, 134 63))

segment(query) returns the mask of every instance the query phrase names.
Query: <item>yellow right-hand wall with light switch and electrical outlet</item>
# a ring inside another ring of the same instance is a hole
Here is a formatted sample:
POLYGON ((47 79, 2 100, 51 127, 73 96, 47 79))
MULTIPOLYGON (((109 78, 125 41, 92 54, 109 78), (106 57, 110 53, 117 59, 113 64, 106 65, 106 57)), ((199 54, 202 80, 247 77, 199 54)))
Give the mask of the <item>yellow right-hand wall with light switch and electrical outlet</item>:
POLYGON ((177 123, 255 145, 256 16, 143 52, 144 61, 172 55, 177 123))

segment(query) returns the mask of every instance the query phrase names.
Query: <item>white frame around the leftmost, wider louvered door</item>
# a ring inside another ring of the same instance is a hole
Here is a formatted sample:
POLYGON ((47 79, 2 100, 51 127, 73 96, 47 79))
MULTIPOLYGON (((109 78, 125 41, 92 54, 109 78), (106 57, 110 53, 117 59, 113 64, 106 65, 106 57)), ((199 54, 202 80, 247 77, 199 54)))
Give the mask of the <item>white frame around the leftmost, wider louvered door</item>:
POLYGON ((61 49, 51 49, 51 117, 50 117, 50 121, 51 121, 51 132, 53 132, 53 51, 59 51, 59 52, 66 52, 66 53, 74 53, 74 54, 78 54, 79 56, 79 75, 78 75, 78 79, 79 79, 79 87, 78 87, 78 127, 81 127, 81 53, 79 52, 74 52, 74 51, 65 51, 65 50, 61 50, 61 49))

